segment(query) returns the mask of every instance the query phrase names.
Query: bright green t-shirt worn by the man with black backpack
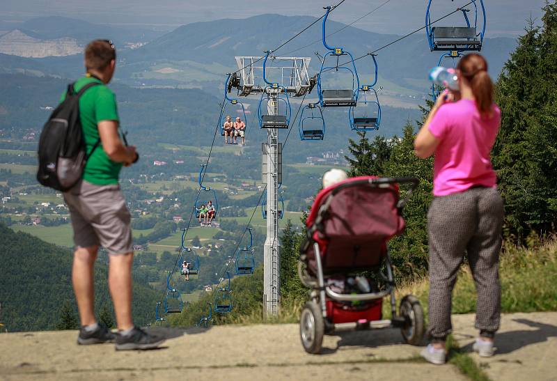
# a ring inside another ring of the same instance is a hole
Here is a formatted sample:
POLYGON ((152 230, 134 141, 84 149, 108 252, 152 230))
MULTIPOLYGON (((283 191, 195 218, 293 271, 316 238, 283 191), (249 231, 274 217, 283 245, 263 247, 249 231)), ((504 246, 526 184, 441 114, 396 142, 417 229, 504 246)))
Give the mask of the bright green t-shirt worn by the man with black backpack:
MULTIPOLYGON (((93 77, 83 77, 76 81, 74 90, 77 92, 91 82, 102 83, 93 77)), ((61 101, 64 98, 65 92, 62 94, 61 101)), ((104 84, 88 88, 79 98, 79 119, 85 137, 86 152, 90 153, 99 139, 97 123, 101 120, 120 120, 116 107, 116 96, 111 89, 104 84)), ((87 160, 83 178, 95 185, 118 184, 120 169, 122 169, 122 163, 110 160, 102 149, 102 143, 99 143, 95 152, 87 160)))

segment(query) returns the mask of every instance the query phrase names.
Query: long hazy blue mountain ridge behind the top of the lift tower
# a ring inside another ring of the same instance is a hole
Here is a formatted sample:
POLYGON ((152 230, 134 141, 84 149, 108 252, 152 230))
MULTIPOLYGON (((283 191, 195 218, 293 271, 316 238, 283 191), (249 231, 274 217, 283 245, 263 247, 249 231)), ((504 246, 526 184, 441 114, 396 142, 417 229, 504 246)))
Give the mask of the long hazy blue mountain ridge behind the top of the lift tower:
MULTIPOLYGON (((161 60, 190 60, 205 64, 220 63, 230 69, 236 69, 234 56, 260 56, 264 50, 281 45, 313 21, 315 17, 310 16, 265 14, 243 20, 196 22, 180 26, 139 49, 125 52, 124 56, 127 62, 134 65, 161 60)), ((396 35, 364 31, 334 21, 328 22, 327 28, 329 33, 343 29, 330 36, 327 41, 330 45, 343 46, 354 56, 361 56, 400 38, 396 35)), ((489 38, 489 28, 486 36, 482 54, 490 63, 492 76, 496 77, 507 61, 508 54, 515 49, 516 41, 512 38, 489 38)), ((316 71, 319 60, 315 52, 324 52, 320 38, 321 23, 317 22, 301 36, 278 50, 276 55, 309 56, 312 58, 311 68, 316 71), (306 47, 311 42, 315 43, 306 47)), ((430 52, 425 32, 421 31, 378 52, 379 73, 402 86, 423 89, 427 71, 437 65, 440 56, 440 52, 430 52), (416 85, 416 80, 422 83, 416 85)), ((447 64, 450 64, 450 61, 447 64)), ((363 73, 371 72, 370 60, 362 59, 356 65, 363 73)))

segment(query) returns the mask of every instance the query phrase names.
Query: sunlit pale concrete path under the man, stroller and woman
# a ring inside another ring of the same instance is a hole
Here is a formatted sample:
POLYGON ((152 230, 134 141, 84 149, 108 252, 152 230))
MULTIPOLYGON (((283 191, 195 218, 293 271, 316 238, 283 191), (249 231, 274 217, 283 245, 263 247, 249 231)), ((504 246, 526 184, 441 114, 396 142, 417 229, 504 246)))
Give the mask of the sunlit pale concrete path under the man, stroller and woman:
MULTIPOLYGON (((454 322, 460 344, 468 344, 473 316, 454 322)), ((501 355, 478 358, 480 366, 494 380, 524 380, 520 372, 528 381, 555 380, 556 324, 557 313, 505 316, 501 355)), ((0 380, 466 380, 452 365, 418 359, 421 348, 402 344, 396 329, 337 332, 325 337, 322 355, 304 352, 297 325, 159 332, 169 338, 164 348, 146 352, 80 346, 72 331, 1 334, 0 380)))

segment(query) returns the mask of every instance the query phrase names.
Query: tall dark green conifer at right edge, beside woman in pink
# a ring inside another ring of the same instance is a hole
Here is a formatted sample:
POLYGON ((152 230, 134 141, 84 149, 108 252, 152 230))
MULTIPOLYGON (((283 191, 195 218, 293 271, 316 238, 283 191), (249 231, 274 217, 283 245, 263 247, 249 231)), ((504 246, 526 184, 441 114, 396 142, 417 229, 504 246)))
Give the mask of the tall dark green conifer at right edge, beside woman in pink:
POLYGON ((526 33, 496 84, 501 129, 492 153, 505 201, 505 235, 519 244, 557 220, 557 5, 526 33))

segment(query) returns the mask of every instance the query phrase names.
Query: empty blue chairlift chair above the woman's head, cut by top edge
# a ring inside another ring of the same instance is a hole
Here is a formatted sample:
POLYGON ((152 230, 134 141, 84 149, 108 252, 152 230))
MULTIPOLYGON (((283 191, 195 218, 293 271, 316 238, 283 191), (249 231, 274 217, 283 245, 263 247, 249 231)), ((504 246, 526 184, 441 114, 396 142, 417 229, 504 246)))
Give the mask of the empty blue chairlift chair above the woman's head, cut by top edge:
POLYGON ((430 45, 432 52, 436 51, 480 51, 483 45, 483 37, 485 35, 485 7, 483 0, 473 0, 473 23, 470 21, 468 13, 469 9, 460 8, 464 16, 466 26, 433 26, 431 20, 432 0, 427 3, 425 12, 425 36, 430 45), (482 13, 482 20, 478 25, 478 2, 482 13), (480 31, 478 31, 480 29, 480 31))

